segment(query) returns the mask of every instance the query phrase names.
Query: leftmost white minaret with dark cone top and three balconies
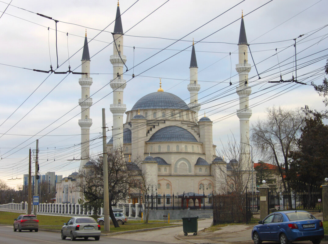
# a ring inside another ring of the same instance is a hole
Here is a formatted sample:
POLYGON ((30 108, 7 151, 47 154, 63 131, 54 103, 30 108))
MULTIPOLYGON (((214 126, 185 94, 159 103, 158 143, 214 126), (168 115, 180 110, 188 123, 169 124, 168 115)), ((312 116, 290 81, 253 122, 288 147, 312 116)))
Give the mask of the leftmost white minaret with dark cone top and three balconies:
POLYGON ((90 98, 90 86, 92 85, 92 78, 90 77, 90 54, 88 47, 87 31, 85 31, 84 47, 82 54, 82 75, 79 79, 81 85, 81 99, 79 104, 81 106, 81 119, 79 125, 81 127, 81 162, 80 168, 89 161, 90 150, 90 127, 92 125, 92 119, 90 119, 90 107, 92 105, 92 98, 90 98))

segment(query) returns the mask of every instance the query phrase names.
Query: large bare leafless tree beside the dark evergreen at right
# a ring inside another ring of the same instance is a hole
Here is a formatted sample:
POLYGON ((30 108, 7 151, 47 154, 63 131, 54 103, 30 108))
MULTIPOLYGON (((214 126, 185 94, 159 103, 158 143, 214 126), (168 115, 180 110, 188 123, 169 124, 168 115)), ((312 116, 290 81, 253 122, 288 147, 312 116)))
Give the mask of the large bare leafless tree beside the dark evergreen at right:
POLYGON ((284 190, 291 192, 289 153, 297 146, 296 139, 305 124, 305 114, 301 109, 289 110, 280 106, 267 108, 266 114, 267 119, 258 120, 251 127, 251 138, 263 156, 276 163, 284 190))

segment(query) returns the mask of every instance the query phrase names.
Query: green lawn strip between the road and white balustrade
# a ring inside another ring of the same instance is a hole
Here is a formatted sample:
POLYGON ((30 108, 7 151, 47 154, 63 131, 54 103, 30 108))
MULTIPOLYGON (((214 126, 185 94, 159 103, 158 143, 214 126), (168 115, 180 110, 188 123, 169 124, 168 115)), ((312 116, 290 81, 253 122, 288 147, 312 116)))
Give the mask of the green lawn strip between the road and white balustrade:
MULTIPOLYGON (((20 214, 19 213, 11 213, 11 212, 3 212, 0 211, 0 224, 12 225, 14 223, 14 218, 17 218, 20 214)), ((52 229, 52 230, 61 230, 64 222, 67 222, 70 217, 68 216, 49 216, 49 215, 37 215, 39 220, 39 228, 40 229, 52 229)), ((149 221, 149 224, 142 224, 141 220, 129 220, 130 223, 137 223, 137 224, 124 224, 121 225, 119 228, 114 228, 114 226, 110 225, 110 232, 120 232, 120 231, 130 231, 130 230, 140 230, 140 229, 147 229, 147 228, 155 228, 155 227, 163 227, 163 226, 170 226, 173 224, 168 224, 159 221, 149 221)), ((104 230, 104 226, 101 226, 101 230, 104 230)))

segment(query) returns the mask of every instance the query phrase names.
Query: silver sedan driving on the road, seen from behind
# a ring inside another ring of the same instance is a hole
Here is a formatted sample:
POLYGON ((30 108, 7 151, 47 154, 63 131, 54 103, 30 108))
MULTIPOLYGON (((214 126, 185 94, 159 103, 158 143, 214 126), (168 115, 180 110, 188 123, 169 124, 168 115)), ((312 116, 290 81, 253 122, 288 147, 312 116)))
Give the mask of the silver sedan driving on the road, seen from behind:
POLYGON ((88 239, 93 237, 96 241, 100 238, 100 225, 92 217, 72 217, 61 230, 61 238, 66 237, 88 239))

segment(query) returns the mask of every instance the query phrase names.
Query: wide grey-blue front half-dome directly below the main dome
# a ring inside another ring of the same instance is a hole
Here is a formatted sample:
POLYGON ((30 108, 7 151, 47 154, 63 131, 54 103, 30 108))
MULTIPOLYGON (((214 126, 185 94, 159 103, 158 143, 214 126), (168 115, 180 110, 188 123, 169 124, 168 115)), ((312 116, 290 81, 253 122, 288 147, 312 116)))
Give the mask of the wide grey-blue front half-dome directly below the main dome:
POLYGON ((167 126, 159 129, 152 135, 148 142, 153 141, 192 141, 198 142, 196 138, 184 128, 178 126, 167 126))

